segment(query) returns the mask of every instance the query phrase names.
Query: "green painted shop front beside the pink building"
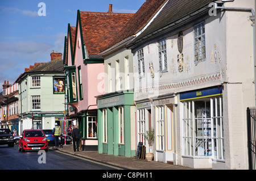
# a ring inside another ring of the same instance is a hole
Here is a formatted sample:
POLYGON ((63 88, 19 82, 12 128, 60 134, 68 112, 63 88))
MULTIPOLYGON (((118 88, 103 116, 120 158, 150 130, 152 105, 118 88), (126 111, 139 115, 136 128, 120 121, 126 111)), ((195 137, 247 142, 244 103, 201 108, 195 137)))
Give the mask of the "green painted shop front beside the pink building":
POLYGON ((135 155, 135 106, 133 92, 96 96, 98 104, 98 153, 135 155))

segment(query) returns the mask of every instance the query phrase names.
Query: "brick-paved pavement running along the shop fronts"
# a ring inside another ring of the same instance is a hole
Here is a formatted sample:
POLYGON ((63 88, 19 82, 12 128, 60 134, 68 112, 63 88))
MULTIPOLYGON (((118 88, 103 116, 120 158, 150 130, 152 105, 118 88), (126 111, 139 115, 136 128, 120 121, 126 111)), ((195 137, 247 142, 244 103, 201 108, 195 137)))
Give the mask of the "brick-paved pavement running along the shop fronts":
MULTIPOLYGON (((54 149, 54 148, 52 148, 54 149)), ((110 164, 123 169, 129 170, 195 170, 189 167, 178 165, 171 165, 163 162, 147 161, 146 159, 137 159, 135 157, 124 157, 122 155, 114 156, 105 153, 98 153, 98 151, 73 151, 73 145, 63 145, 63 148, 57 150, 77 157, 90 159, 93 161, 110 164)))

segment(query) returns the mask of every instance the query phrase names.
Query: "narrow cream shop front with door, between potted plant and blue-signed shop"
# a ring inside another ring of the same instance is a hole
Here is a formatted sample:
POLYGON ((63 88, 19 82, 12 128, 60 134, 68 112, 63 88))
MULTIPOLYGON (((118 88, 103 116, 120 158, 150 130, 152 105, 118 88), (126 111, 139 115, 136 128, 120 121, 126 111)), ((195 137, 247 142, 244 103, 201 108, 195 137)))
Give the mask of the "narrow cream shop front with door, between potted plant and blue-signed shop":
POLYGON ((155 161, 176 164, 177 96, 159 96, 152 103, 155 108, 155 161))

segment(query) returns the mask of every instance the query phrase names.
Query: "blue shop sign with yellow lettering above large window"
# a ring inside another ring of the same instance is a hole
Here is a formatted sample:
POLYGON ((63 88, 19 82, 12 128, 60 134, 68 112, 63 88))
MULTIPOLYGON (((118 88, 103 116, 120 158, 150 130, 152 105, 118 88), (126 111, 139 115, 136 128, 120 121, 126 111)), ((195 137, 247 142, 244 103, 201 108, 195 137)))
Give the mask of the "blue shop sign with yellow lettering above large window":
POLYGON ((222 95, 222 86, 180 93, 180 101, 222 95))

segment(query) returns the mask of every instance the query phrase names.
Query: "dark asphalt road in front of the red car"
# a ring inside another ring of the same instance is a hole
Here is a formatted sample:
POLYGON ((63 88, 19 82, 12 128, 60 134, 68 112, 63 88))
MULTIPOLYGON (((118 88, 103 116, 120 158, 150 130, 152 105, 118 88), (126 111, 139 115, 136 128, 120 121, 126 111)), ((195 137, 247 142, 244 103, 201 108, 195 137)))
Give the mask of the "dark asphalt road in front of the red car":
POLYGON ((18 151, 0 145, 0 170, 116 170, 118 167, 96 163, 49 147, 48 151, 18 151))

